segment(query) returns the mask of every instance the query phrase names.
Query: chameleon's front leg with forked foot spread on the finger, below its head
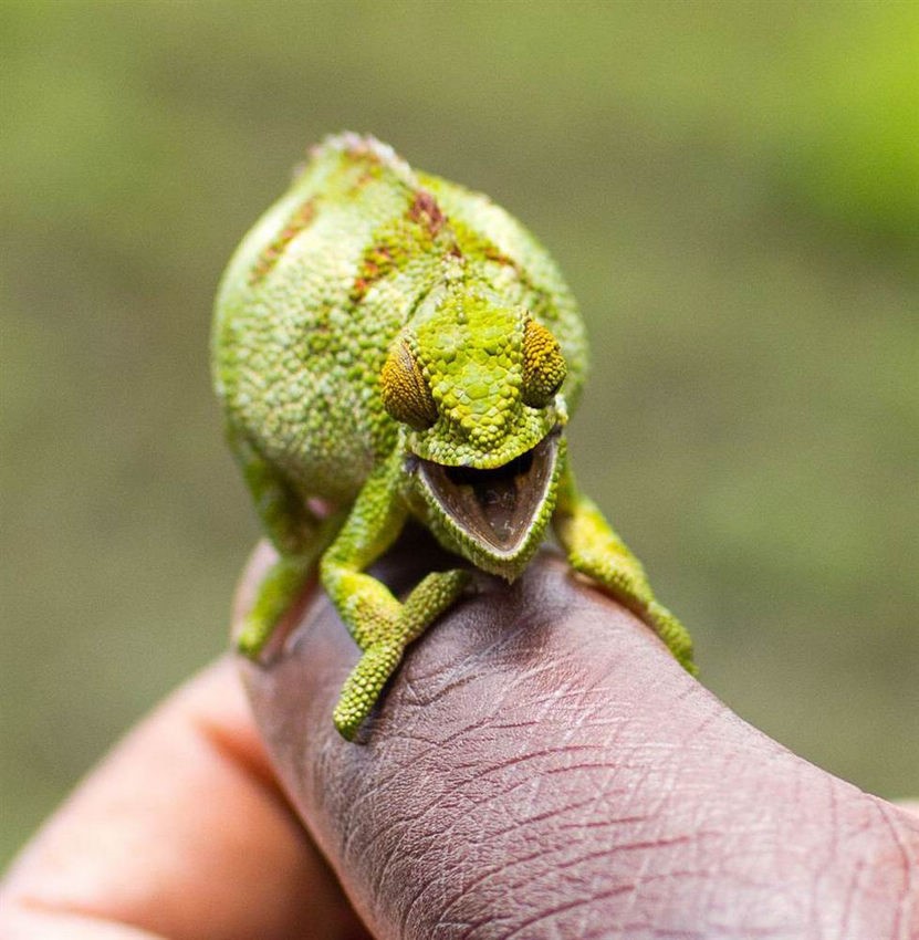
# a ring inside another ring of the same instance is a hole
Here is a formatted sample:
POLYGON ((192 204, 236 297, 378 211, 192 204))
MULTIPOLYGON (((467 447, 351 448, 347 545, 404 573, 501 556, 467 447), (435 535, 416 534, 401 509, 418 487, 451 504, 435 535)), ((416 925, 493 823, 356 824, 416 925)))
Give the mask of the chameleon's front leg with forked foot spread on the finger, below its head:
POLYGON ((364 484, 320 563, 323 586, 363 652, 333 713, 335 728, 348 741, 376 704, 406 646, 459 597, 469 581, 469 573, 460 570, 432 572, 400 604, 386 585, 364 574, 405 524, 400 476, 401 456, 396 453, 364 484))

